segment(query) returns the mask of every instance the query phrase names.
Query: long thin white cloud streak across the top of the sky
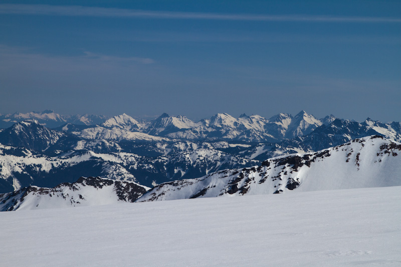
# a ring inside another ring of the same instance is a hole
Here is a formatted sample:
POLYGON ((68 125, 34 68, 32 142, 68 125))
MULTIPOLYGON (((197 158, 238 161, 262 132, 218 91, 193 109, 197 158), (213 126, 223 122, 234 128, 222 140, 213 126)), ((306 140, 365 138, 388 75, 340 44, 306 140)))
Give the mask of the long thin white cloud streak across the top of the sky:
POLYGON ((272 22, 401 23, 399 18, 156 12, 83 6, 0 4, 0 14, 272 22))

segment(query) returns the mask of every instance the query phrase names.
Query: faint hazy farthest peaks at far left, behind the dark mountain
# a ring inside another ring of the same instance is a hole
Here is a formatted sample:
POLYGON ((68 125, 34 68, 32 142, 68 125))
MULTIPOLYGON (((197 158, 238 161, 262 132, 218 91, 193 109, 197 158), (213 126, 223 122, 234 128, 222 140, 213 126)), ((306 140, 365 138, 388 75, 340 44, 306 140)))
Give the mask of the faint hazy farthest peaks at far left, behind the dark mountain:
POLYGON ((96 125, 101 124, 107 119, 103 115, 60 115, 53 110, 45 110, 43 112, 29 112, 14 114, 0 114, 0 128, 9 128, 13 124, 25 120, 37 120, 40 124, 48 128, 60 127, 66 123, 78 125, 96 125))

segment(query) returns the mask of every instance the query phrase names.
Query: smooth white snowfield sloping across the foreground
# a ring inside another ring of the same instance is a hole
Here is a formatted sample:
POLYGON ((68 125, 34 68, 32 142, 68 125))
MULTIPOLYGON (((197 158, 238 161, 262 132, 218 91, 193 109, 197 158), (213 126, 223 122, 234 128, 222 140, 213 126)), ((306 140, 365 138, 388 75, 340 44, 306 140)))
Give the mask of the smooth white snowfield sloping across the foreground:
POLYGON ((3 266, 401 265, 401 187, 1 212, 3 266))

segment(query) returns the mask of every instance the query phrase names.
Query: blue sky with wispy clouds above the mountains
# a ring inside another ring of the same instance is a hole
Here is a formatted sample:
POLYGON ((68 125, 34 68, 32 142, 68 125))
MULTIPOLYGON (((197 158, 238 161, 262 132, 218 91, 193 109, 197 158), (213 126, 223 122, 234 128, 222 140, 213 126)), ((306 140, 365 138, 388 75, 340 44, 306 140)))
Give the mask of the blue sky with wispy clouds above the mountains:
POLYGON ((3 114, 401 121, 400 1, 6 0, 0 32, 3 114))

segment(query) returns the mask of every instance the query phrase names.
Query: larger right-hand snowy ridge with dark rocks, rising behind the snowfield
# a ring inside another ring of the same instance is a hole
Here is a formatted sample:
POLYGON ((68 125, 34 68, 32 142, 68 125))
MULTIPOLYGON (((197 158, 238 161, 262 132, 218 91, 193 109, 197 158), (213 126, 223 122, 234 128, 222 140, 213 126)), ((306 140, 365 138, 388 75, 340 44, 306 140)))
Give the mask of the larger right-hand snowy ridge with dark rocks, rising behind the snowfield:
POLYGON ((260 166, 162 183, 137 201, 401 185, 401 143, 370 136, 260 166))

